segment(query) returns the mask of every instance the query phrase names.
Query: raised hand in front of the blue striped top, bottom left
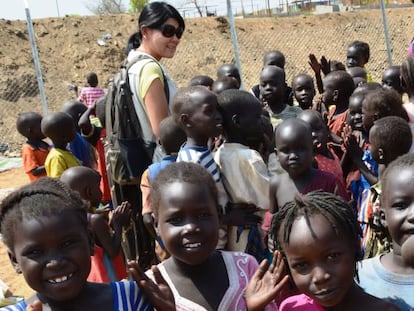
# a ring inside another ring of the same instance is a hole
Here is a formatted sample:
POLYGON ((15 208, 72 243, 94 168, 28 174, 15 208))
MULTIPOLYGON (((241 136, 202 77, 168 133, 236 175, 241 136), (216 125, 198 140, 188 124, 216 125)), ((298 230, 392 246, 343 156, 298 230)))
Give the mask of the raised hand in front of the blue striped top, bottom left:
POLYGON ((142 271, 136 261, 128 261, 128 270, 155 309, 175 311, 174 295, 157 266, 151 267, 155 282, 142 271))

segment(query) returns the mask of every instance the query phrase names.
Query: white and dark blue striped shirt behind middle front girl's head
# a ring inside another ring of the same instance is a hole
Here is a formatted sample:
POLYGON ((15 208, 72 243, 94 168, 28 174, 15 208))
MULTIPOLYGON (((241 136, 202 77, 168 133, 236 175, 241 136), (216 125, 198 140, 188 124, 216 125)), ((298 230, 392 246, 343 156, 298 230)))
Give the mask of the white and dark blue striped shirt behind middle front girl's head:
POLYGON ((220 181, 220 171, 214 162, 210 150, 204 146, 182 146, 178 152, 177 162, 193 162, 200 164, 211 173, 215 182, 220 181))

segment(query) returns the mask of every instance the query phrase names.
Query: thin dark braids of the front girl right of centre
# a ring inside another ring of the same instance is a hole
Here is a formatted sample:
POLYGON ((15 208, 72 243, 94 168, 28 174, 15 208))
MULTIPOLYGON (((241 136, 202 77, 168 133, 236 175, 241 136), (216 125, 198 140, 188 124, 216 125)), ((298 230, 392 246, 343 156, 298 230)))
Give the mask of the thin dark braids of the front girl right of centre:
POLYGON ((274 241, 274 248, 283 253, 282 245, 289 243, 293 223, 299 217, 305 218, 308 227, 313 232, 310 216, 317 214, 326 218, 336 235, 339 235, 340 232, 348 235, 355 248, 356 269, 357 261, 362 258, 361 227, 352 207, 332 193, 324 191, 313 191, 304 195, 298 193, 293 201, 287 202, 272 219, 270 235, 274 241))

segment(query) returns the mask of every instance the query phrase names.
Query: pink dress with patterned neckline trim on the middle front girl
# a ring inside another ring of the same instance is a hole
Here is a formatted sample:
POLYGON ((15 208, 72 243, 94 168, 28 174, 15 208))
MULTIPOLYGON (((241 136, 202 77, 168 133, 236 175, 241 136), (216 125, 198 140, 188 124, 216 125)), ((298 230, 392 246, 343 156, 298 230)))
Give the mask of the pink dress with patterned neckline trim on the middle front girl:
MULTIPOLYGON (((218 311, 228 310, 247 310, 246 300, 244 298, 244 292, 247 287, 247 283, 257 270, 258 264, 253 256, 240 252, 226 252, 221 251, 224 263, 227 269, 227 275, 229 278, 229 287, 220 302, 218 311)), ((168 272, 165 270, 163 263, 158 264, 158 268, 161 275, 168 283, 171 291, 174 294, 175 307, 179 311, 204 311, 203 306, 191 301, 185 297, 182 297, 176 287, 173 280, 171 280, 168 272)), ((151 270, 146 272, 147 275, 153 278, 151 270)), ((214 286, 214 284, 211 284, 214 286)), ((278 310, 276 303, 270 303, 266 306, 265 310, 278 310)))

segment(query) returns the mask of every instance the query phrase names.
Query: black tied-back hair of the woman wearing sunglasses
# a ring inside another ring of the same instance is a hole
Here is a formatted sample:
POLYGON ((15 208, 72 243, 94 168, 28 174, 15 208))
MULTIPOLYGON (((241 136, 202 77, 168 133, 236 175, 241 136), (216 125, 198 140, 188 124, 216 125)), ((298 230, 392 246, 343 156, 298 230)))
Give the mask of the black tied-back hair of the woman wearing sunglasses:
POLYGON ((141 11, 138 19, 138 31, 132 34, 127 43, 126 54, 138 48, 141 45, 142 34, 141 27, 158 28, 169 18, 173 18, 178 25, 184 30, 185 22, 181 14, 172 5, 165 2, 148 3, 141 11))

